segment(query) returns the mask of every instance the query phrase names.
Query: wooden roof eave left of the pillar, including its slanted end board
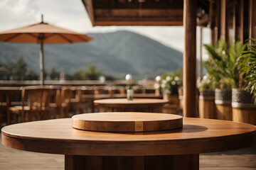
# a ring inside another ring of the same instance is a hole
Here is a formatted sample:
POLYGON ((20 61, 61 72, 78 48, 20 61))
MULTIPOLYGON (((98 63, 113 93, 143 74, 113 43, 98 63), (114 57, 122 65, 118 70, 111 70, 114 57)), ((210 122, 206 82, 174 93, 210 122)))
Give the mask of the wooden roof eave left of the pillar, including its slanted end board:
MULTIPOLYGON (((108 8, 97 8, 100 1, 82 0, 92 26, 182 26, 183 8, 117 8, 110 0, 108 8)), ((147 4, 148 5, 148 4, 147 4)))

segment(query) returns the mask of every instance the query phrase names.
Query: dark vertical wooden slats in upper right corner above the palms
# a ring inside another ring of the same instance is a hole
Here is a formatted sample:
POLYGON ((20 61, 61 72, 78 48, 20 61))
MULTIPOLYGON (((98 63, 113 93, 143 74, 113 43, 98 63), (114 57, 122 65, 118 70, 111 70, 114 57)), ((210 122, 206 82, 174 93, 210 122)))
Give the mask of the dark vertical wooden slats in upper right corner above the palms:
POLYGON ((212 44, 222 39, 233 43, 256 37, 256 1, 210 0, 208 27, 212 44))

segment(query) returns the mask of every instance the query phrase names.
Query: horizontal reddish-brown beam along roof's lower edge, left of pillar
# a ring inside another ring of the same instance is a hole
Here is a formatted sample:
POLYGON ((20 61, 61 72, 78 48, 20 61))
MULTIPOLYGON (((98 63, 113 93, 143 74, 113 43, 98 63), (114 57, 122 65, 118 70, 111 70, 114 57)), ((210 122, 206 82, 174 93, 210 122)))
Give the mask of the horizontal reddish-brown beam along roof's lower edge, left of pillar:
POLYGON ((95 9, 96 26, 182 26, 182 9, 95 9))

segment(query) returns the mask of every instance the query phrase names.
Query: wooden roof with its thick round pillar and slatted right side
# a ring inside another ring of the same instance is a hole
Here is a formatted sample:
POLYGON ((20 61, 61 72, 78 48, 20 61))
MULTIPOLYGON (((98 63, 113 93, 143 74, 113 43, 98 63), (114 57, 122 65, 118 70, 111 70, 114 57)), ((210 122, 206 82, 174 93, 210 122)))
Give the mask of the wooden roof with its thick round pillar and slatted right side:
POLYGON ((196 117, 196 26, 211 44, 256 38, 255 0, 82 0, 92 26, 183 26, 183 115, 196 117))

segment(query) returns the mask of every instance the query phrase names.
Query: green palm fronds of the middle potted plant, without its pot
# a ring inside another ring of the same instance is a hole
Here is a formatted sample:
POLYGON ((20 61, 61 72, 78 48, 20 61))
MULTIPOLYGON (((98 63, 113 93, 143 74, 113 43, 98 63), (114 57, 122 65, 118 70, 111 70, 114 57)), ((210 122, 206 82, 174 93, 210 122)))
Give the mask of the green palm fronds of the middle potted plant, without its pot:
POLYGON ((209 59, 203 62, 208 74, 213 77, 216 88, 231 88, 227 82, 232 82, 233 87, 239 86, 239 72, 237 59, 245 49, 242 42, 235 42, 227 49, 224 40, 219 40, 216 46, 204 45, 208 52, 209 59))

